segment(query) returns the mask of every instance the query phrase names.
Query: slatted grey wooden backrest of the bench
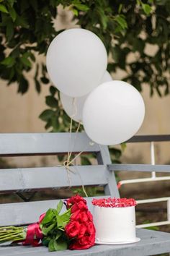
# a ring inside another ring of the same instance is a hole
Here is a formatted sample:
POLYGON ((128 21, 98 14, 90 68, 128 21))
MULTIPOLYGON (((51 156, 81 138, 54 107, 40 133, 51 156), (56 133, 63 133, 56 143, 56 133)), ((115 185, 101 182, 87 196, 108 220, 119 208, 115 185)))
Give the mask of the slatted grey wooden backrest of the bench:
MULTIPOLYGON (((85 133, 1 134, 0 156, 58 155, 68 152, 95 153, 97 165, 0 169, 0 192, 36 191, 61 187, 103 185, 105 195, 119 197, 115 174, 108 171, 111 163, 106 146, 91 142, 85 133)), ((22 225, 38 220, 48 208, 55 208, 58 200, 14 202, 1 204, 0 226, 22 225)))

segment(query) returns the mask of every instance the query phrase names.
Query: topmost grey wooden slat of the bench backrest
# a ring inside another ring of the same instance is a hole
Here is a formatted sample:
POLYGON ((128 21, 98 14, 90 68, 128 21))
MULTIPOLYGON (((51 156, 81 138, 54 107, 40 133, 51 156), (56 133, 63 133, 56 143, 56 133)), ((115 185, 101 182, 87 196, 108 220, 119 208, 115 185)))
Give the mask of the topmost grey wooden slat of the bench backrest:
POLYGON ((53 155, 56 153, 98 152, 99 145, 91 143, 83 133, 21 133, 0 134, 0 156, 53 155))

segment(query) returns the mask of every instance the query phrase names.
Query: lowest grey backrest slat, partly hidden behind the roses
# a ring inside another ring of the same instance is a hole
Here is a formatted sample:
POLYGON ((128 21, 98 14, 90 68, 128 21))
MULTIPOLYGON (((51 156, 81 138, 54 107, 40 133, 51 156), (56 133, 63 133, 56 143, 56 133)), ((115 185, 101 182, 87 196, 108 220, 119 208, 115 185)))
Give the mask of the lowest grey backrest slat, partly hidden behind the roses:
MULTIPOLYGON (((93 198, 94 197, 85 198, 91 212, 93 211, 93 205, 91 204, 93 198)), ((102 198, 102 196, 99 198, 102 198)), ((24 225, 37 222, 42 213, 45 213, 49 208, 56 208, 59 201, 60 200, 44 200, 1 204, 0 226, 24 225)), ((65 209, 66 208, 63 207, 63 210, 65 209)))

